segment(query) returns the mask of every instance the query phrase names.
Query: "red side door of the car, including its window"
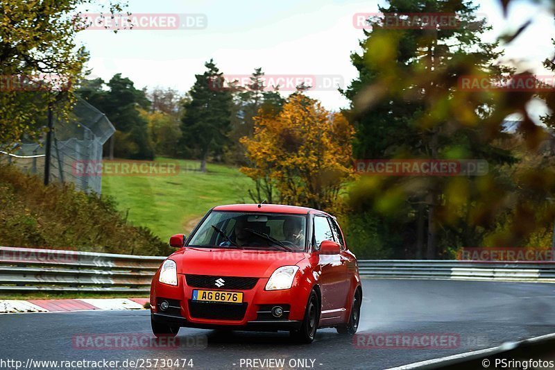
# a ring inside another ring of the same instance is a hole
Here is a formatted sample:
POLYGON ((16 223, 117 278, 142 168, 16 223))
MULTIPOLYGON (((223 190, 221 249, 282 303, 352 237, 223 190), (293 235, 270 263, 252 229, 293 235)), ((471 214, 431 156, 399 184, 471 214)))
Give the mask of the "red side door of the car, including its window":
MULTIPOLYGON (((330 220, 325 215, 314 215, 314 250, 320 249, 324 240, 334 240, 334 234, 330 220)), ((332 320, 341 317, 344 310, 345 300, 343 296, 345 265, 341 262, 341 254, 318 255, 320 265, 320 288, 322 291, 322 320, 332 320)))

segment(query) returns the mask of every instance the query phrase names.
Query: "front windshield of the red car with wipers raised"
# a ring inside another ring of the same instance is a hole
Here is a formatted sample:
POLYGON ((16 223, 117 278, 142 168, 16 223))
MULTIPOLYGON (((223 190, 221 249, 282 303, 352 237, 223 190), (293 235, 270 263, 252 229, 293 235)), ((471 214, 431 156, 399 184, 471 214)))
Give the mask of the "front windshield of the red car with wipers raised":
POLYGON ((305 250, 305 215, 210 212, 187 246, 305 250))

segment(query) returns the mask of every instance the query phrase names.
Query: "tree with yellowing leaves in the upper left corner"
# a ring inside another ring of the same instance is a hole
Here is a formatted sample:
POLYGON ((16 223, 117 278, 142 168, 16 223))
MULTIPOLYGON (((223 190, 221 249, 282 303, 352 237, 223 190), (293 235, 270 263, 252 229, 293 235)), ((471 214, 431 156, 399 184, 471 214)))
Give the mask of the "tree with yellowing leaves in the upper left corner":
POLYGON ((0 1, 0 150, 40 140, 47 107, 68 119, 89 55, 76 41, 84 13, 121 12, 119 0, 0 1))

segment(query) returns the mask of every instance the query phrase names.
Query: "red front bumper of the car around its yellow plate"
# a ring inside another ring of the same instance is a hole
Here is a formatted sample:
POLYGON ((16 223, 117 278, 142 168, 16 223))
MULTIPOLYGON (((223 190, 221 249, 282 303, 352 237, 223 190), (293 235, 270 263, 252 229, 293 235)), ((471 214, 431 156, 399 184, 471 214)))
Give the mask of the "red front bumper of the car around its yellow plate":
MULTIPOLYGON (((211 289, 216 291, 233 291, 243 292, 243 308, 239 309, 238 305, 230 310, 234 310, 235 314, 229 312, 214 313, 215 307, 210 307, 210 303, 206 304, 205 314, 202 314, 203 308, 198 307, 198 303, 191 301, 194 289, 204 289, 189 287, 186 284, 185 276, 178 275, 178 286, 171 286, 159 282, 153 283, 151 289, 151 314, 153 320, 168 323, 169 325, 186 326, 190 328, 232 328, 234 330, 292 330, 300 328, 302 319, 305 316, 305 306, 308 299, 310 289, 302 285, 293 285, 291 289, 266 291, 264 287, 268 282, 268 278, 259 278, 253 289, 211 289), (160 310, 160 300, 163 298, 171 299, 171 312, 162 312, 160 310), (287 315, 275 319, 268 317, 266 311, 268 307, 280 305, 287 307, 287 315), (201 312, 201 314, 199 314, 201 312), (228 317, 227 319, 225 317, 228 317)), ((200 303, 202 305, 202 303, 200 303)), ((212 305, 214 306, 214 305, 212 305)), ((219 310, 221 309, 218 308, 219 310)), ((225 311, 225 307, 223 308, 225 311)))

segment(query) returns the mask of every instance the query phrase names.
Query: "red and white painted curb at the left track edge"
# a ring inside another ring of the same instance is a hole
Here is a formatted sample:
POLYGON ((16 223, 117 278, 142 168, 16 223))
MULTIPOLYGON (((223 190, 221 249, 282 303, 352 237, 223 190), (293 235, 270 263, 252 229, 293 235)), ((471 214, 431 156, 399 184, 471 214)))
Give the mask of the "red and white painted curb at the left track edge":
POLYGON ((0 300, 0 314, 92 310, 144 310, 148 298, 76 298, 0 300))

